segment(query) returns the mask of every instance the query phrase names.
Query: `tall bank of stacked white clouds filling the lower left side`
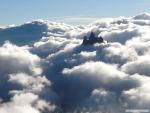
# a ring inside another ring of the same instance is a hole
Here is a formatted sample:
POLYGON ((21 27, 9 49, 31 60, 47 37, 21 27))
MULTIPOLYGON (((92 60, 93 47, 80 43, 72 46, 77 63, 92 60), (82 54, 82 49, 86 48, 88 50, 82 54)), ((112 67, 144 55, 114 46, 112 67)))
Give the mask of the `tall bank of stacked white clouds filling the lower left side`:
POLYGON ((51 82, 41 75, 40 57, 10 42, 1 46, 0 52, 0 113, 53 110, 55 106, 42 99, 51 82))

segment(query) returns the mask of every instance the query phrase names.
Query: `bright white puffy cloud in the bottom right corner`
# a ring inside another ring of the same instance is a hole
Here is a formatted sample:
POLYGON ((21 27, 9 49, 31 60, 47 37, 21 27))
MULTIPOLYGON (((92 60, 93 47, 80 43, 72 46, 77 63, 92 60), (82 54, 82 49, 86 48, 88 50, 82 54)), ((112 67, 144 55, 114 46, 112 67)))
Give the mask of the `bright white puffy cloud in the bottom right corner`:
POLYGON ((145 108, 149 106, 149 77, 144 75, 136 74, 133 76, 134 79, 140 82, 140 86, 131 88, 130 90, 124 91, 122 97, 126 99, 127 106, 130 108, 145 108))

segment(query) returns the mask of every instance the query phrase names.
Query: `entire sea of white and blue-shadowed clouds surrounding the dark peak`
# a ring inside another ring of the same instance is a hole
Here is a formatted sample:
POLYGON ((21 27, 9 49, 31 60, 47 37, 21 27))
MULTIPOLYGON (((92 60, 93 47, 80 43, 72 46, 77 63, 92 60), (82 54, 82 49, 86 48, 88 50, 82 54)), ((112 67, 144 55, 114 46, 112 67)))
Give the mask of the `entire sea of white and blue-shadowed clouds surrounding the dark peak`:
POLYGON ((150 14, 0 28, 0 113, 150 109, 150 14), (93 31, 105 43, 82 45, 93 31))

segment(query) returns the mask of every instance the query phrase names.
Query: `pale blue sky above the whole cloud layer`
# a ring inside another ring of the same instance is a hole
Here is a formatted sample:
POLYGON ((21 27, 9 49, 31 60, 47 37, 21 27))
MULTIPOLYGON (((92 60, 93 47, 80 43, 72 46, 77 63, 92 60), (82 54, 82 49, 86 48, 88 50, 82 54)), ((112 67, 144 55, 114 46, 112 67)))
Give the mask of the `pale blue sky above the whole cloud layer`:
POLYGON ((35 19, 67 22, 67 18, 70 23, 78 23, 81 18, 82 23, 142 12, 150 12, 149 0, 0 0, 0 25, 35 19))

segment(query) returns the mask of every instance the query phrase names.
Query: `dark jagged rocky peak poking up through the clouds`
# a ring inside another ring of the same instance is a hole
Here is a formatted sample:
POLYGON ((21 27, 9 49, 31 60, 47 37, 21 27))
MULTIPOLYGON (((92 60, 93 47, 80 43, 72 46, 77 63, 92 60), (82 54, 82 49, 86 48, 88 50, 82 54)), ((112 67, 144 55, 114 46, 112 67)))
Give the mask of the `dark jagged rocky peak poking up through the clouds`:
POLYGON ((87 38, 86 36, 84 36, 84 39, 83 39, 83 45, 93 45, 95 43, 103 43, 104 40, 102 37, 96 37, 94 35, 93 32, 91 32, 91 35, 89 38, 87 38))

